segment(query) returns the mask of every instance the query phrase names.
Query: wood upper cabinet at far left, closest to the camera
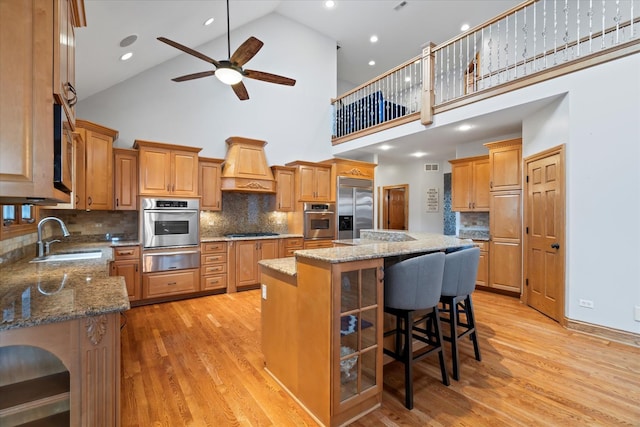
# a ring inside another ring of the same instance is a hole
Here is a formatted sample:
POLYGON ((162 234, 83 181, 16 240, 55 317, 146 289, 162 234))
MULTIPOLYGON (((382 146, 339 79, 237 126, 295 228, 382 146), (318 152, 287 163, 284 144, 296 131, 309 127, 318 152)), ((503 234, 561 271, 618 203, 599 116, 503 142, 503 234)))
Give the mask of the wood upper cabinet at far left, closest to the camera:
MULTIPOLYGON (((77 4, 82 4, 78 1, 77 4)), ((0 198, 69 202, 53 185, 52 1, 0 3, 0 198)))

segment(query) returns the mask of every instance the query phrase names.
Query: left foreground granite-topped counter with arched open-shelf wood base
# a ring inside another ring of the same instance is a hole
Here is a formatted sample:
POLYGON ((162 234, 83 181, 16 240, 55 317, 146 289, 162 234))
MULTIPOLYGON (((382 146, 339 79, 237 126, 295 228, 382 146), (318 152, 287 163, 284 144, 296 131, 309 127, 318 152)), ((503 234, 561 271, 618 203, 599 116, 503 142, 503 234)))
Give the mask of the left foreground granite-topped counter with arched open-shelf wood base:
POLYGON ((95 259, 0 265, 0 425, 119 425, 122 277, 110 242, 64 245, 95 259))

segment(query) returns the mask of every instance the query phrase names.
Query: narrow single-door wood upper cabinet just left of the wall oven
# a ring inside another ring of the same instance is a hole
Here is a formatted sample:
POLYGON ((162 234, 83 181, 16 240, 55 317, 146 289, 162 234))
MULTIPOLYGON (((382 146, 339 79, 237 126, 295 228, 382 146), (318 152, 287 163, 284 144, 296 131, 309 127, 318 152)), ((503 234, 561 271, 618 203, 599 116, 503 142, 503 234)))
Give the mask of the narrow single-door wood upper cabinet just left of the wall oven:
POLYGON ((126 148, 114 148, 113 168, 115 210, 138 210, 138 152, 126 148))

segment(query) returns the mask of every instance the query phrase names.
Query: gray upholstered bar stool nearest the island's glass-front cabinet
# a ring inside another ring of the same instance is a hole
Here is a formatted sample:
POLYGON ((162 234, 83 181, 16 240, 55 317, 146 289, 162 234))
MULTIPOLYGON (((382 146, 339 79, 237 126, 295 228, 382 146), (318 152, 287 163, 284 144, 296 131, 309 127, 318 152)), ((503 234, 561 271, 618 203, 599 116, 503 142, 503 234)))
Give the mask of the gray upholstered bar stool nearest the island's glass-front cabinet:
POLYGON ((385 336, 395 334, 395 351, 384 349, 384 353, 404 363, 405 406, 408 409, 413 408, 413 362, 437 352, 442 383, 449 385, 438 312, 444 259, 442 252, 421 255, 400 261, 384 272, 384 311, 396 317, 395 329, 385 332, 385 336), (420 315, 416 319, 414 313, 418 310, 420 315), (425 320, 434 327, 414 330, 415 323, 425 320), (427 345, 414 352, 414 339, 427 345))

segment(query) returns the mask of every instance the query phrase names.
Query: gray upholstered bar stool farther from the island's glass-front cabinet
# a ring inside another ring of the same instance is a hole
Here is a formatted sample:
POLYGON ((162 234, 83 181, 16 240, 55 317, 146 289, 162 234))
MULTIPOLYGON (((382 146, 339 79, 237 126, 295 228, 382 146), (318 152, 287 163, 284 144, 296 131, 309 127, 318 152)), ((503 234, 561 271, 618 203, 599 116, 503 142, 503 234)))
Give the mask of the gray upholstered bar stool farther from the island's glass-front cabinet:
POLYGON ((476 287, 476 275, 480 259, 479 248, 463 249, 448 253, 444 262, 444 278, 442 279, 443 322, 449 323, 449 334, 445 341, 451 342, 451 359, 453 361, 453 379, 460 379, 460 361, 458 358, 458 340, 469 335, 473 342, 476 360, 480 360, 480 347, 471 303, 471 294, 476 287), (461 317, 464 315, 464 320, 461 317), (458 332, 461 330, 461 332, 458 332))

